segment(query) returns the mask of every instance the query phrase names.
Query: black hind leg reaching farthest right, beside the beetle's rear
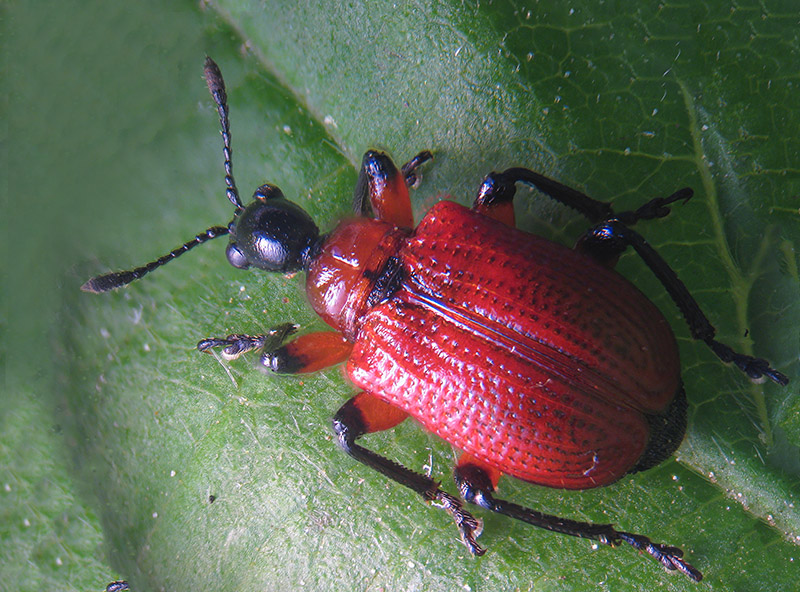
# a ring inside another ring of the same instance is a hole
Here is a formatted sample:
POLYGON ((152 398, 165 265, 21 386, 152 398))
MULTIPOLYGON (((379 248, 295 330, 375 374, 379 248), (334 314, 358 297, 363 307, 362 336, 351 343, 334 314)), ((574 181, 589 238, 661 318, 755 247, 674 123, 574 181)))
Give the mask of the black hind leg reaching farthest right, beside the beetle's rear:
POLYGON ((619 220, 607 220, 591 228, 581 239, 579 246, 601 260, 616 257, 628 246, 633 247, 683 313, 692 337, 704 341, 720 360, 732 362, 752 380, 769 378, 784 386, 789 383, 789 379, 770 367, 766 360, 738 353, 730 346, 716 341, 716 329, 703 314, 700 305, 667 262, 638 232, 619 220))

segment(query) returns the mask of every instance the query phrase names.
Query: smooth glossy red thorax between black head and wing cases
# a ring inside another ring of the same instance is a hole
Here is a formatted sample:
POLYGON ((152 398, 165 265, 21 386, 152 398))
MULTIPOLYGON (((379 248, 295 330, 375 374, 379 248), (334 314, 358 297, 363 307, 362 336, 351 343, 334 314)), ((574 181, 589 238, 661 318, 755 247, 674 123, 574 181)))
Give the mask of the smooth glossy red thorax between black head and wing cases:
POLYGON ((409 232, 368 218, 340 223, 308 269, 306 293, 317 314, 353 340, 361 316, 387 296, 395 255, 409 232))

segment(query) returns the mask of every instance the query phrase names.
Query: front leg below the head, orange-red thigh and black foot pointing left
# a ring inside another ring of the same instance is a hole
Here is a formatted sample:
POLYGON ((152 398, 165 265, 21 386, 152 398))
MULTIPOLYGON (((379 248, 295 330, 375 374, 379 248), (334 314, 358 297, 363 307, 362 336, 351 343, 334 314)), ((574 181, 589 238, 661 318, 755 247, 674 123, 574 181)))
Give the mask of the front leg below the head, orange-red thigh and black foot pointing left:
POLYGON ((283 344, 295 331, 297 325, 284 323, 263 335, 234 334, 224 339, 203 339, 197 344, 197 349, 205 352, 221 347, 222 356, 228 360, 258 350, 261 352, 261 366, 278 374, 317 372, 341 364, 350 357, 353 345, 338 331, 309 333, 283 344))

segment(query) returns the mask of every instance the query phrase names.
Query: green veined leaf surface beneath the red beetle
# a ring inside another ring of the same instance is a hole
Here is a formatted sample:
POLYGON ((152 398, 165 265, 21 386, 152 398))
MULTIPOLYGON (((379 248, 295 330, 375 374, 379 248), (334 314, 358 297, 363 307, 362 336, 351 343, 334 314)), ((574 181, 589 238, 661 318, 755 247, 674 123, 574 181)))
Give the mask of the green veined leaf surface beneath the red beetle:
MULTIPOLYGON (((631 549, 595 549, 477 511, 489 552, 471 558, 444 513, 338 451, 330 417, 353 392, 340 370, 276 378, 252 359, 194 349, 287 320, 323 328, 302 277, 235 270, 211 243, 117 293, 78 292, 89 275, 152 260, 230 219, 204 53, 228 83, 243 196, 277 183, 323 228, 348 212, 371 146, 399 161, 434 151, 414 195, 418 215, 441 193, 469 203, 486 172, 515 165, 622 209, 694 187, 689 204, 640 231, 722 341, 769 358, 792 382, 752 385, 720 365, 627 255, 620 271, 674 321, 681 347, 692 410, 678 461, 599 490, 506 479, 500 494, 678 545, 711 589, 792 587, 800 115, 790 105, 800 77, 790 5, 87 6, 69 12, 72 28, 106 34, 72 32, 38 50, 64 56, 38 75, 69 100, 18 78, 18 96, 50 117, 31 122, 38 135, 15 157, 39 165, 15 195, 43 198, 28 208, 59 199, 20 236, 29 248, 15 265, 61 279, 22 289, 20 319, 32 329, 17 351, 55 349, 54 394, 42 388, 33 407, 42 417, 24 421, 49 425, 47 409, 59 410, 72 493, 99 517, 109 560, 135 589, 696 588, 631 549), (53 150, 53 137, 70 141, 53 150), (63 252, 51 253, 54 244, 63 252), (39 337, 48 325, 55 348, 39 337)), ((526 230, 569 244, 586 227, 539 194, 520 191, 518 201, 526 230)), ((36 372, 17 358, 21 372, 36 372)), ((411 422, 365 442, 430 467, 455 491, 455 453, 411 422)))

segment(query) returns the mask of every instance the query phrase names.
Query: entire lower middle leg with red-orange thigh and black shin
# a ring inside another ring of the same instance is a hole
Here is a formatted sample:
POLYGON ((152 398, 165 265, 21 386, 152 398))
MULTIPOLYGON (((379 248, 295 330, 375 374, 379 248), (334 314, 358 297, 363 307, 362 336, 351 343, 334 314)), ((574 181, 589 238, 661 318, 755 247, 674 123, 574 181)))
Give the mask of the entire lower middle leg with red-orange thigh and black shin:
POLYGON ((333 430, 339 445, 347 454, 416 491, 426 501, 450 514, 461 533, 462 542, 470 552, 473 555, 483 555, 485 550, 475 541, 481 531, 481 522, 464 510, 461 500, 442 491, 439 484, 430 477, 407 469, 355 443, 364 434, 392 428, 405 418, 404 411, 362 392, 342 405, 333 418, 333 430))

